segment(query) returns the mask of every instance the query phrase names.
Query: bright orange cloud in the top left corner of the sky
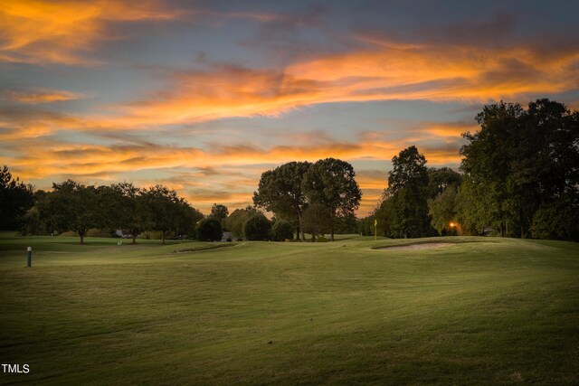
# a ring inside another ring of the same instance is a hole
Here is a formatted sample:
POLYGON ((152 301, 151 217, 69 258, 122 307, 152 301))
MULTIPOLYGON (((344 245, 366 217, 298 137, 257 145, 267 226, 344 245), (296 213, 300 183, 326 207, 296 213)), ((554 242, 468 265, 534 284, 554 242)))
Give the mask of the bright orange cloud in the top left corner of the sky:
POLYGON ((0 61, 90 65, 83 53, 115 39, 109 22, 167 20, 178 13, 157 1, 5 1, 0 5, 0 61))

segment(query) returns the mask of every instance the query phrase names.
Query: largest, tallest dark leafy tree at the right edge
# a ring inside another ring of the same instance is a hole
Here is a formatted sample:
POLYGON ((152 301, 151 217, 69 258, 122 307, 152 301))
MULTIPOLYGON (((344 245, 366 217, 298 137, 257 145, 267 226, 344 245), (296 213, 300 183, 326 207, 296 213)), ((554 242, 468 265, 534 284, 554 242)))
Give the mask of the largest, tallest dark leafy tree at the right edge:
POLYGON ((527 110, 501 101, 485 106, 477 122, 479 131, 465 133, 470 143, 460 149, 460 194, 475 206, 462 215, 480 227, 476 214, 484 212, 501 236, 526 237, 539 207, 579 189, 579 114, 549 99, 527 110))

